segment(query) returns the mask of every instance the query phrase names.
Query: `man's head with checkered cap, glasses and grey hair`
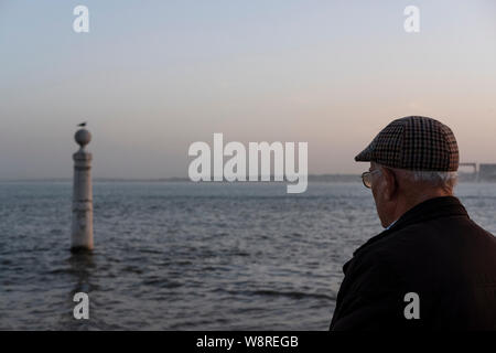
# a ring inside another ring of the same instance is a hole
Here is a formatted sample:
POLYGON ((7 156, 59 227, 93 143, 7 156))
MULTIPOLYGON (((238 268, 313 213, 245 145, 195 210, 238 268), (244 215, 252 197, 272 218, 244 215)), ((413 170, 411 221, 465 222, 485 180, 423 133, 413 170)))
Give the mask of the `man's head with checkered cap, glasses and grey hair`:
POLYGON ((370 162, 364 183, 387 227, 416 204, 453 194, 459 149, 448 126, 414 116, 391 121, 355 160, 370 162))

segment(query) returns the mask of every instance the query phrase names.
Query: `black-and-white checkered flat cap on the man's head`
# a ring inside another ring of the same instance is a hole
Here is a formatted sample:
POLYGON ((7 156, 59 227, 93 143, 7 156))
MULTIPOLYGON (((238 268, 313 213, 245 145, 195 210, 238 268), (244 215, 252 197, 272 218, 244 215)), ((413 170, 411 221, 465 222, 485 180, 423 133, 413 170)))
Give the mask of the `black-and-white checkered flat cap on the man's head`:
POLYGON ((407 170, 456 171, 459 147, 444 124, 412 116, 389 122, 355 161, 407 170))

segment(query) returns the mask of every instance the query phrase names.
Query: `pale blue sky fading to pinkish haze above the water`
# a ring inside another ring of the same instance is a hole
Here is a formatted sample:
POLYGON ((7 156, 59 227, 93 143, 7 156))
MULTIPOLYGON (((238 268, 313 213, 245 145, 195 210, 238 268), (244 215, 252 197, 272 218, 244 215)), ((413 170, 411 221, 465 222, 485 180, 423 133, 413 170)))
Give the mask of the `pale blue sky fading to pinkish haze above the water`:
POLYGON ((358 173, 408 115, 496 162, 496 1, 0 0, 0 179, 69 178, 84 120, 96 178, 186 176, 214 132, 305 141, 310 173, 358 173))

